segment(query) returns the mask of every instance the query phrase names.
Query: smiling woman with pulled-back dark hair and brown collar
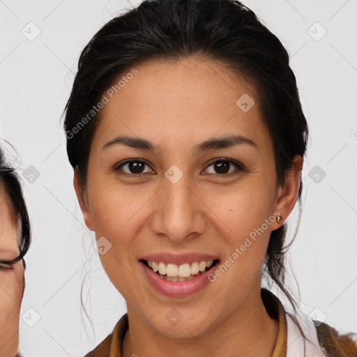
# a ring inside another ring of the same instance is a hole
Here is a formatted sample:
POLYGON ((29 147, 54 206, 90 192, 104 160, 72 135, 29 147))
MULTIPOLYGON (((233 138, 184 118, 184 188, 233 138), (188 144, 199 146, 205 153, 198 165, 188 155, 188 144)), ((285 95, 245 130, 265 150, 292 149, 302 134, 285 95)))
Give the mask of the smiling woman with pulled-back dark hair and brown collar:
POLYGON ((289 56, 238 1, 144 1, 84 48, 65 130, 128 314, 87 356, 357 356, 287 314, 284 225, 307 123, 289 56), (130 327, 130 328, 129 328, 130 327))

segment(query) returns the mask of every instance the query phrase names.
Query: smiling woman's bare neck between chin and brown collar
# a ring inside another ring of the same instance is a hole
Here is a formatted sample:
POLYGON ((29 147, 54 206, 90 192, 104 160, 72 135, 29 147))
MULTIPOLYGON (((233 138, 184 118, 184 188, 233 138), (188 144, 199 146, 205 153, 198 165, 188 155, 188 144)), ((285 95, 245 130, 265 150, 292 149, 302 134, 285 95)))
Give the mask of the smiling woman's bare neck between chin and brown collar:
MULTIPOLYGON (((139 356, 260 356, 270 357, 278 337, 278 321, 269 317, 259 298, 248 298, 227 319, 202 335, 174 338, 155 331, 128 307, 130 331, 123 340, 123 357, 139 356)), ((192 331, 191 331, 192 333, 192 331)))

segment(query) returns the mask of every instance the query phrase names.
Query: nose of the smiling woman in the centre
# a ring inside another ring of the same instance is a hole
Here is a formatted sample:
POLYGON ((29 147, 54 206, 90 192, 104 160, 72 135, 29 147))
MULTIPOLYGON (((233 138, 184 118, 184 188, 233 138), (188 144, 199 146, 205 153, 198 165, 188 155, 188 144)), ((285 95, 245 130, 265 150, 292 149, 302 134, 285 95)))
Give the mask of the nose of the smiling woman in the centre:
POLYGON ((205 231, 206 206, 195 191, 185 175, 176 183, 163 179, 151 218, 151 229, 155 234, 180 243, 205 231))

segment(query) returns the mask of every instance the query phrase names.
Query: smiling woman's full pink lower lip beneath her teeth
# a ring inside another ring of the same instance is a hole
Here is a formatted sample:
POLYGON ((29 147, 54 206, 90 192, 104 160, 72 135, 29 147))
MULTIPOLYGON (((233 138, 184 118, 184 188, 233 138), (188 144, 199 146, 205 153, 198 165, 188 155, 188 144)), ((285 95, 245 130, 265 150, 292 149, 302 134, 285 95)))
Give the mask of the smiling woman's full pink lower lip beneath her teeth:
POLYGON ((146 266, 142 261, 140 261, 144 268, 144 272, 149 282, 153 285, 153 287, 161 294, 170 296, 172 298, 183 298, 185 296, 189 296, 192 294, 196 294, 200 290, 202 290, 208 284, 208 274, 212 273, 213 269, 208 269, 204 273, 199 274, 196 278, 188 280, 186 282, 170 282, 169 280, 165 280, 160 278, 157 273, 154 273, 149 266, 146 266))

